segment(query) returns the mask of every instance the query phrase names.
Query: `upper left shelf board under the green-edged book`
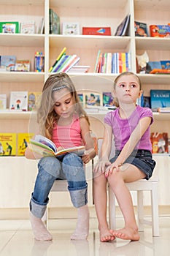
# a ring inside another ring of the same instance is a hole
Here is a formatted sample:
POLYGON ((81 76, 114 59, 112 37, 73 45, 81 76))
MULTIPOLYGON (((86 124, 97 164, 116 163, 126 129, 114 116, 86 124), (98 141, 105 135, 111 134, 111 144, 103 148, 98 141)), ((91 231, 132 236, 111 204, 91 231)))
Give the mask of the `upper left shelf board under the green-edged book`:
POLYGON ((1 46, 44 47, 44 34, 0 34, 1 46))

